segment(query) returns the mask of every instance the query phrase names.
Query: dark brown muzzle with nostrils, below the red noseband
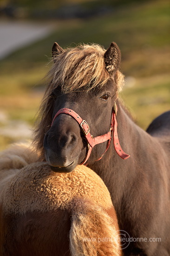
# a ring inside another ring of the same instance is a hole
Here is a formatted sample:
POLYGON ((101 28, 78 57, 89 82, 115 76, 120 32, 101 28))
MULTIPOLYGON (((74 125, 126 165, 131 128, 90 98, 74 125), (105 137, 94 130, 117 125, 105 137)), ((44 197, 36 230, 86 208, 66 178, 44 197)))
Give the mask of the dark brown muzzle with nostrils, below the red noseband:
POLYGON ((71 172, 86 152, 78 124, 68 115, 59 117, 44 137, 44 149, 52 171, 71 172))

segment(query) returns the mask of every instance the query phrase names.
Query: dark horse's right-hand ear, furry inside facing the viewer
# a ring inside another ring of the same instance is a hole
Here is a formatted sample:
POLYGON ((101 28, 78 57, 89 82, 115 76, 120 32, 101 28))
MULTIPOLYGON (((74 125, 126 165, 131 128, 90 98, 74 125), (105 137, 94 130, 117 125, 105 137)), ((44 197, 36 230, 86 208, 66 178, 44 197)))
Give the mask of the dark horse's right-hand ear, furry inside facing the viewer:
POLYGON ((121 53, 118 45, 115 42, 111 43, 111 46, 107 49, 104 55, 106 70, 113 74, 117 71, 120 60, 121 53))

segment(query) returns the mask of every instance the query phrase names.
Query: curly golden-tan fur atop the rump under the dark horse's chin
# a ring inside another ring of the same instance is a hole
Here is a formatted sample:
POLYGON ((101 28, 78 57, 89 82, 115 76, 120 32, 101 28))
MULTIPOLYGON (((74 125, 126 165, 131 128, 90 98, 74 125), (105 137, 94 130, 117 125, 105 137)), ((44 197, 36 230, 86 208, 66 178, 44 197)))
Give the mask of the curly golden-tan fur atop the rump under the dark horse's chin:
POLYGON ((4 200, 6 211, 16 214, 28 209, 68 209, 77 196, 92 198, 95 204, 107 209, 112 202, 105 189, 99 176, 85 166, 78 166, 71 173, 54 173, 46 162, 38 162, 27 165, 13 176, 4 200))

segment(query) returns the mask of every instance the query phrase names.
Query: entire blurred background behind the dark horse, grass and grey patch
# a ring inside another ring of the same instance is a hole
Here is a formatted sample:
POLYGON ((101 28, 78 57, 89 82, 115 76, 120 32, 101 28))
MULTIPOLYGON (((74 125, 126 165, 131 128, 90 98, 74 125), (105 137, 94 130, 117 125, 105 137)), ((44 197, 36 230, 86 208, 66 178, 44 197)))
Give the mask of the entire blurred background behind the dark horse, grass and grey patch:
POLYGON ((169 0, 0 0, 0 150, 31 136, 54 41, 115 41, 137 124, 170 110, 169 0))

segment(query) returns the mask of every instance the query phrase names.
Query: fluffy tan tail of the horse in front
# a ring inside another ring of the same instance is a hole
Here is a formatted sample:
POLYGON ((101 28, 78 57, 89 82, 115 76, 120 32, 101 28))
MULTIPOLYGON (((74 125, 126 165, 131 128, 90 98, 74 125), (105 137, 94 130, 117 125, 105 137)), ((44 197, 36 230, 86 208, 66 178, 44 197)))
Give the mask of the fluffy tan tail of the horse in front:
POLYGON ((119 234, 110 216, 95 204, 86 203, 84 207, 85 213, 75 211, 72 216, 72 256, 120 256, 119 234))

